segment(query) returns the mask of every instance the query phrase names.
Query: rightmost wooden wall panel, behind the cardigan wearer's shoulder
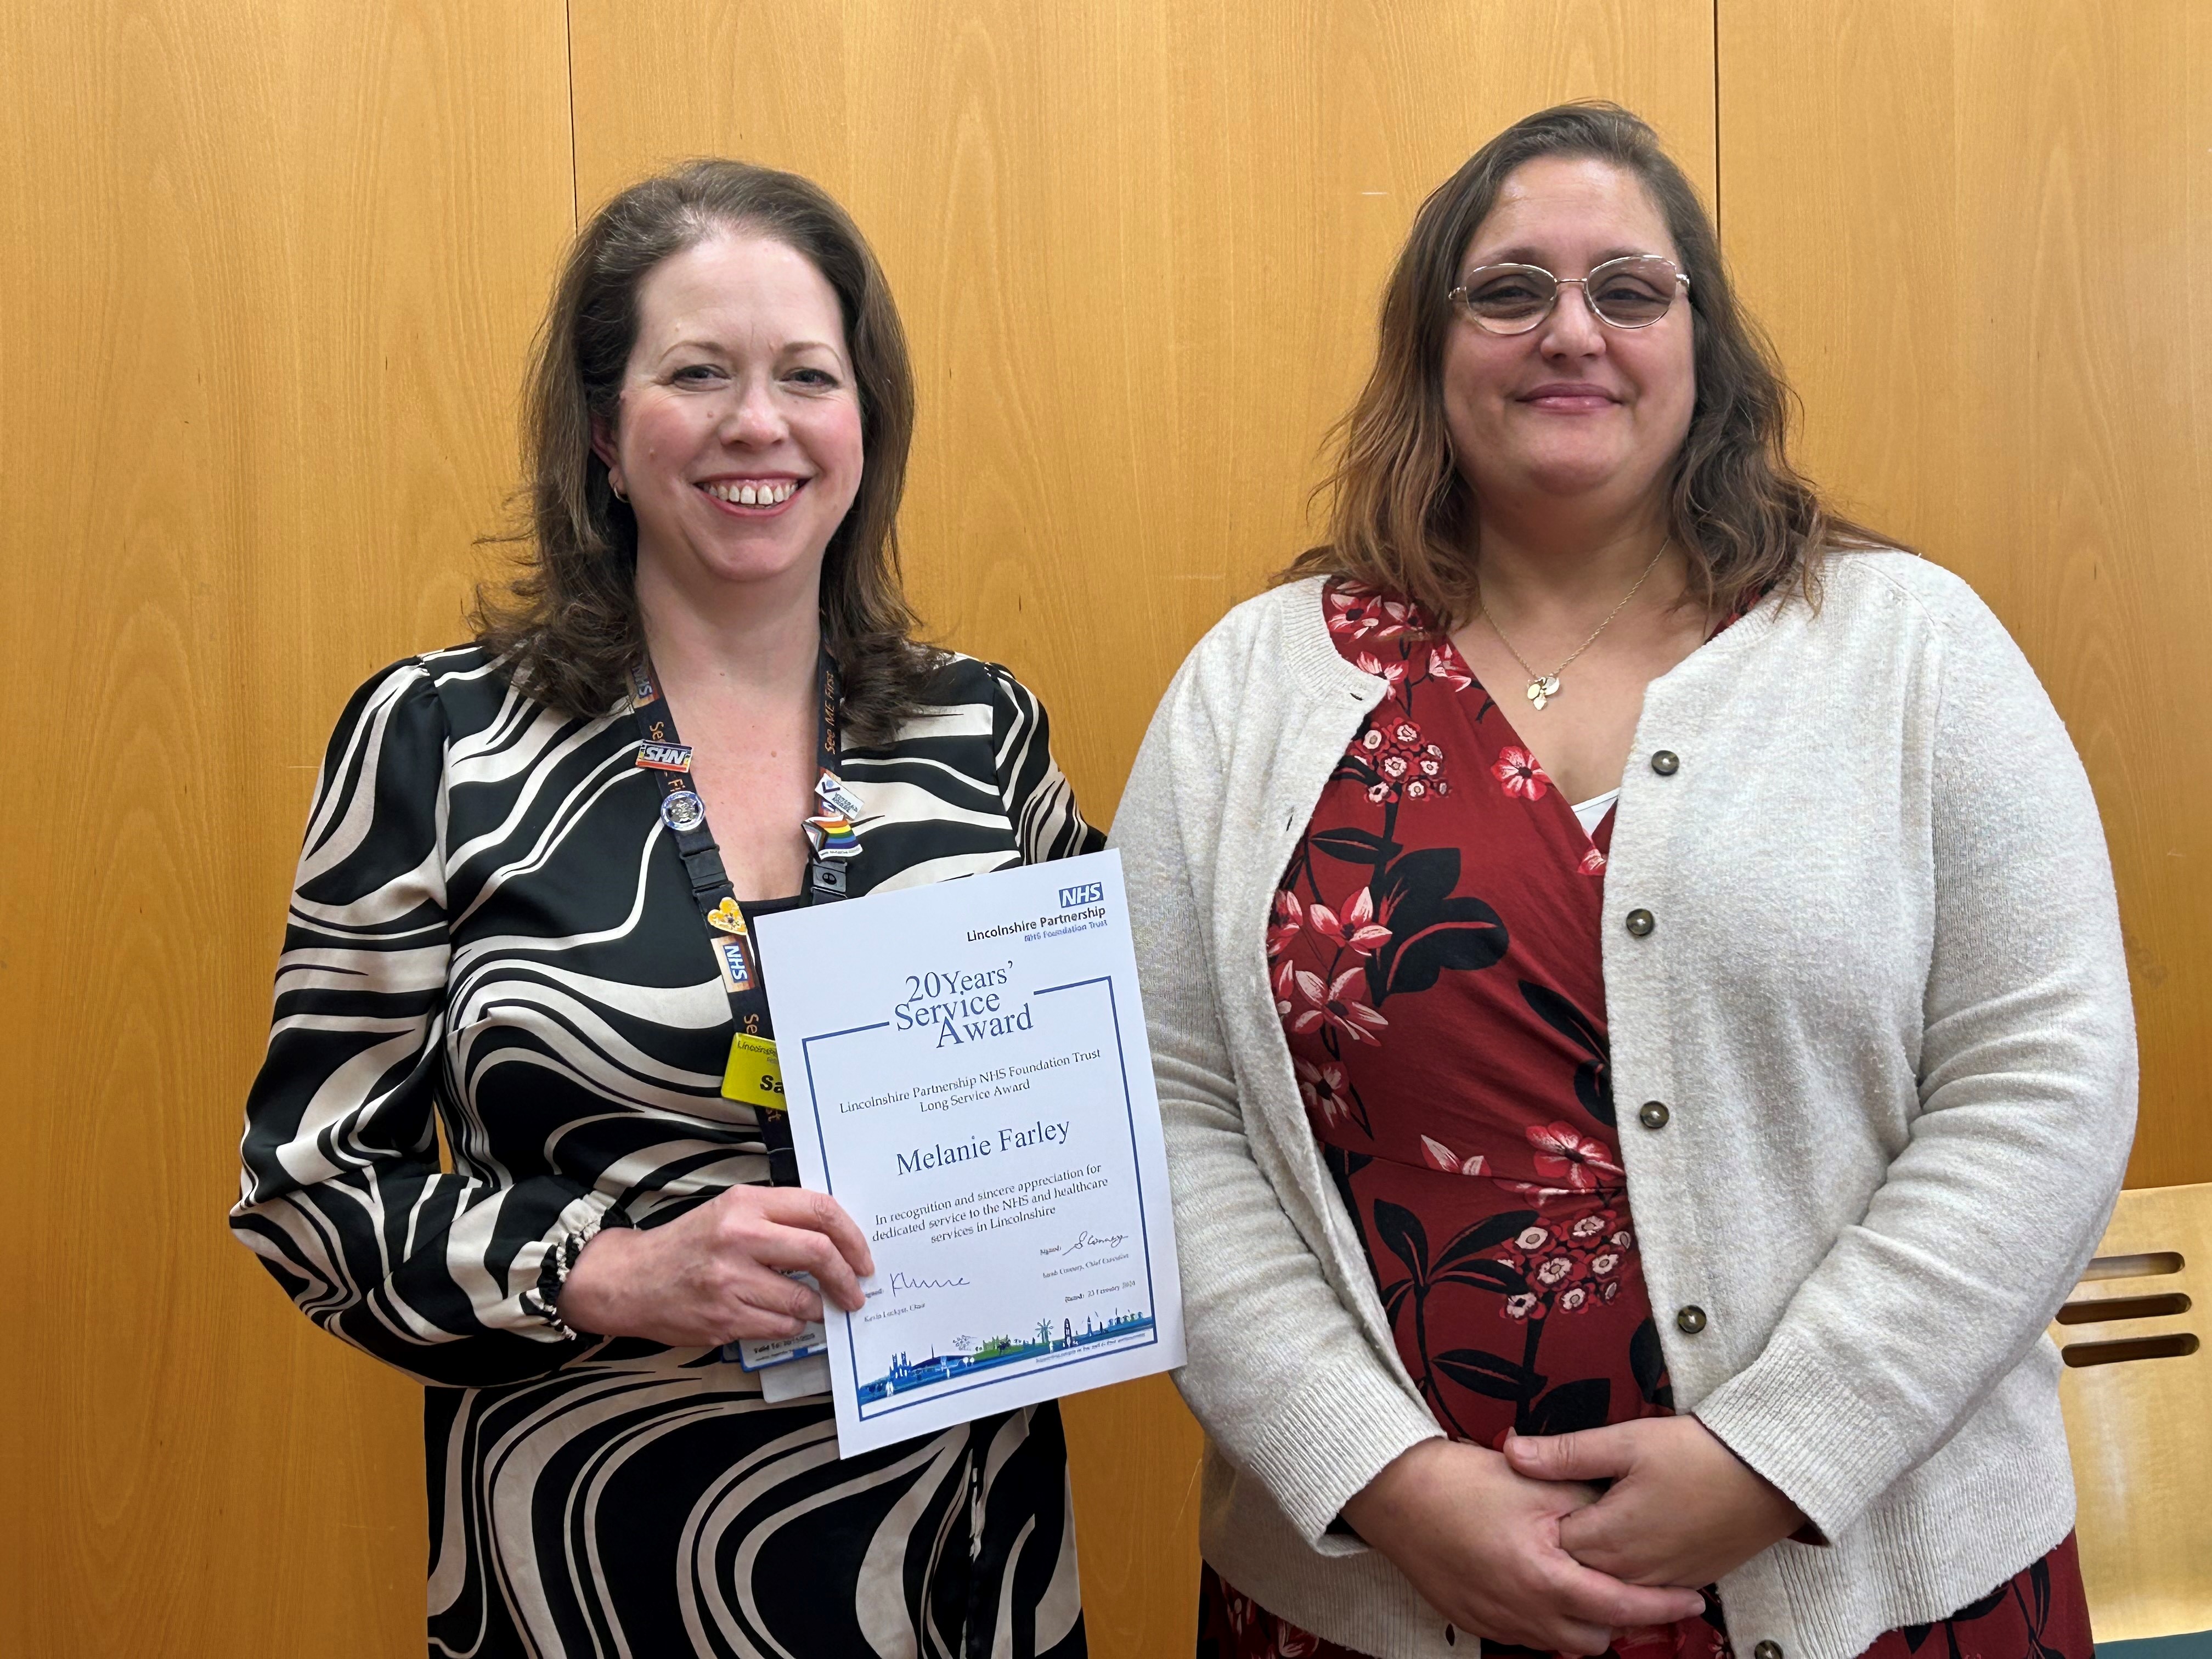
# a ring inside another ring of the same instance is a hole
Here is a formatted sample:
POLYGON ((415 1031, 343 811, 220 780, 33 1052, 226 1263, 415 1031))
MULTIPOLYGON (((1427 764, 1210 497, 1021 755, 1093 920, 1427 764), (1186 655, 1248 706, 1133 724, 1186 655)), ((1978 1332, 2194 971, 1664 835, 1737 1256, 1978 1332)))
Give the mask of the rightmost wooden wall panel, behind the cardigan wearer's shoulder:
POLYGON ((2212 11, 1719 0, 1719 88, 1814 473, 1975 584, 2097 785, 2130 1183, 2212 1179, 2212 11))

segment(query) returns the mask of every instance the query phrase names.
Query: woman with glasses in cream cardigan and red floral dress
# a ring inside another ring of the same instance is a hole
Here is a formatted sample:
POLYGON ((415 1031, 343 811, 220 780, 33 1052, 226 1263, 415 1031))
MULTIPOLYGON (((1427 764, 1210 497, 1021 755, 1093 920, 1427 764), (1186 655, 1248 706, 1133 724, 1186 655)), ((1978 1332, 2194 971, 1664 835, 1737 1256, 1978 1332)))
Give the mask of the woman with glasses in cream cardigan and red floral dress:
POLYGON ((2088 1659, 2097 807, 1783 400, 1650 128, 1515 124, 1398 259, 1329 542, 1152 721, 1201 1652, 2088 1659))

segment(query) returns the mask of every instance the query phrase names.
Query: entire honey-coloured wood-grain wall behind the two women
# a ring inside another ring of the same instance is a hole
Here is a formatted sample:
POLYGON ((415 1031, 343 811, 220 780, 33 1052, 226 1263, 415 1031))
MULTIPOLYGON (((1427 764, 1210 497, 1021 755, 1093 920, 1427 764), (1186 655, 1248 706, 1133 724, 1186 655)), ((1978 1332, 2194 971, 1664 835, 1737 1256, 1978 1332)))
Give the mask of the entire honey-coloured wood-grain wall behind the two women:
MULTIPOLYGON (((940 637, 1099 821, 1307 538, 1422 192, 1608 95, 1719 204, 1816 473, 1966 573, 2081 745, 2212 1179, 2212 18, 2192 0, 0 0, 0 1652, 420 1650, 418 1394, 221 1212, 323 737, 460 635, 560 248, 653 166, 883 254, 940 637), (2192 305, 2197 310, 2192 310, 2192 305)), ((1068 1405, 1093 1650, 1186 1655, 1197 1431, 1068 1405)))

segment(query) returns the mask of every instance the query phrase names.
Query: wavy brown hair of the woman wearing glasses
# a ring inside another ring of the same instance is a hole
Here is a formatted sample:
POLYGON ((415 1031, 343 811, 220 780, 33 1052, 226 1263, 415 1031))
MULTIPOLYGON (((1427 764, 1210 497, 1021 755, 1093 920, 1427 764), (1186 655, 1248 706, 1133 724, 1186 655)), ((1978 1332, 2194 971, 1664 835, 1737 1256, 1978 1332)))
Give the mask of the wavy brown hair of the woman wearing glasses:
POLYGON ((1736 305, 1721 239, 1659 135, 1617 104, 1557 104, 1475 150, 1420 206, 1383 296, 1376 365, 1332 429, 1329 540, 1281 580, 1349 575, 1405 593, 1444 622, 1473 602, 1475 493, 1444 427, 1447 294, 1513 168, 1546 155, 1610 161, 1644 181, 1690 272, 1697 405, 1668 480, 1688 602, 1728 606, 1796 580, 1814 597, 1816 551, 1896 546, 1832 511, 1790 465, 1792 392, 1736 305))

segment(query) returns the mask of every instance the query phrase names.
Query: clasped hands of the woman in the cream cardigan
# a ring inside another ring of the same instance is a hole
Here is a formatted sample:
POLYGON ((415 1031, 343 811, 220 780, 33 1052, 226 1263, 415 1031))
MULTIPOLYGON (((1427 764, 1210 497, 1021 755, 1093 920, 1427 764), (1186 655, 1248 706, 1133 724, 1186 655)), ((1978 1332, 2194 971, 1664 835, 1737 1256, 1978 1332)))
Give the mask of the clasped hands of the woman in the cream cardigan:
POLYGON ((1805 1524, 1688 1416, 1513 1436, 1502 1453, 1422 1440, 1345 1520, 1462 1630, 1573 1655, 1694 1617, 1699 1586, 1805 1524))

